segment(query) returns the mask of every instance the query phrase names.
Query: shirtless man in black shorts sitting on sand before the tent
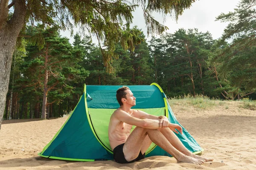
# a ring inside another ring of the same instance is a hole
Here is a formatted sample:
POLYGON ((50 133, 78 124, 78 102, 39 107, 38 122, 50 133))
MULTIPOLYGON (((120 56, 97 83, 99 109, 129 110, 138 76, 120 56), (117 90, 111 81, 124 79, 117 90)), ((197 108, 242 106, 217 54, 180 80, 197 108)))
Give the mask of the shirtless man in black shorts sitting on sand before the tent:
POLYGON ((136 105, 136 98, 128 87, 119 88, 116 99, 120 108, 111 115, 108 127, 109 142, 116 162, 130 163, 144 159, 152 142, 175 157, 177 162, 201 165, 205 161, 213 160, 195 155, 186 149, 173 133, 178 133, 179 130, 182 134, 182 127, 170 123, 166 116, 153 116, 131 109, 136 105), (137 127, 131 132, 132 125, 137 127))

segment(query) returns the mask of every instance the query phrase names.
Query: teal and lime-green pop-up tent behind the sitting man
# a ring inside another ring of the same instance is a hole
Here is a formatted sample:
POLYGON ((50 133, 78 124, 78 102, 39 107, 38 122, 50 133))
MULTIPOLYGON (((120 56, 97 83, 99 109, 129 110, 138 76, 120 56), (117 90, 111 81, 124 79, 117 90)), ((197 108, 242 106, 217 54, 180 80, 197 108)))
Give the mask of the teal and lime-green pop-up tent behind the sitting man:
MULTIPOLYGON (((84 85, 84 93, 73 113, 44 147, 39 156, 51 159, 73 161, 111 160, 113 152, 108 141, 108 123, 111 114, 119 104, 116 90, 122 86, 84 85)), ((136 99, 136 106, 146 113, 156 116, 165 115, 172 123, 179 124, 170 108, 166 95, 156 83, 151 85, 128 86, 136 99)), ((195 139, 183 128, 178 138, 193 153, 201 153, 203 149, 195 139)), ((154 143, 145 153, 148 156, 171 156, 154 143)))

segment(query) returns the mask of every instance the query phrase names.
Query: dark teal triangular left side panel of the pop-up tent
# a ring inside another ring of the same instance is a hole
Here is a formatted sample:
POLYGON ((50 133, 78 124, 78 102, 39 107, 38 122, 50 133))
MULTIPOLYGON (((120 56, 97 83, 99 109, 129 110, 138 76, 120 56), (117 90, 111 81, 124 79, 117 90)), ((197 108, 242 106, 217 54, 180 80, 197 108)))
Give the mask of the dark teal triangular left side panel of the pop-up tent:
POLYGON ((88 123, 84 94, 76 109, 70 115, 58 136, 41 153, 43 156, 55 156, 70 159, 113 159, 98 142, 88 123))

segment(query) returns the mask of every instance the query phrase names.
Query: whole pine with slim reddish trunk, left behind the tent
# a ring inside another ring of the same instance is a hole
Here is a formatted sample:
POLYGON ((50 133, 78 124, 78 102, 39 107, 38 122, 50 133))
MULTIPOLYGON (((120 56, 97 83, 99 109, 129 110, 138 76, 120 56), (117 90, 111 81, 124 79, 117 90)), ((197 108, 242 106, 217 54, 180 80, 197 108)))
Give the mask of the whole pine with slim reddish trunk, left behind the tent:
POLYGON ((36 81, 32 82, 32 85, 38 85, 43 92, 41 118, 46 119, 47 105, 70 96, 73 87, 69 82, 80 82, 88 73, 84 68, 77 66, 82 56, 74 55, 68 39, 60 37, 56 28, 48 28, 42 34, 45 45, 41 51, 33 45, 28 48, 30 62, 27 63, 26 71, 35 70, 36 81))

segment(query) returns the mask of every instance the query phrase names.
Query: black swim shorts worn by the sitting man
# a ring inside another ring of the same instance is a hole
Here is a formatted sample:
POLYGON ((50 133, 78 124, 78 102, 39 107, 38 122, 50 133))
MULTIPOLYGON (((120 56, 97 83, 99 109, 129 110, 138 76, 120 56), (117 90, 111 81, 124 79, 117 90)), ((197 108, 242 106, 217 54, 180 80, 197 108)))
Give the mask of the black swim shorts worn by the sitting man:
POLYGON ((113 155, 114 155, 114 159, 115 159, 116 162, 121 163, 121 164, 126 164, 126 163, 131 163, 131 162, 134 162, 134 161, 139 161, 139 160, 145 158, 145 153, 142 154, 141 151, 140 151, 140 153, 139 153, 137 158, 135 158, 132 161, 126 161, 124 152, 122 150, 124 145, 125 145, 124 143, 123 144, 119 144, 113 150, 113 155))

